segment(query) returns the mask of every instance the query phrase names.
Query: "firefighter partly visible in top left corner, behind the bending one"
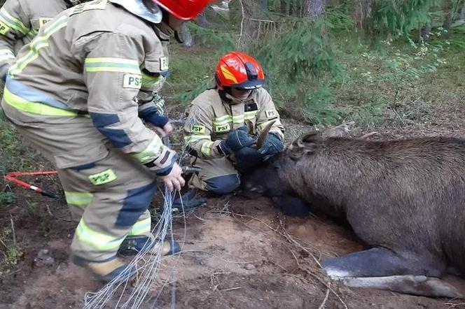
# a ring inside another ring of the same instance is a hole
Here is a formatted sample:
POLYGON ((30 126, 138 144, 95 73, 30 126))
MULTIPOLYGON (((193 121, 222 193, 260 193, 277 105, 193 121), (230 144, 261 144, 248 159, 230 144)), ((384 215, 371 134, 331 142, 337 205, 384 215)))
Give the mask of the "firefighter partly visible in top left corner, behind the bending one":
POLYGON ((39 28, 80 1, 6 0, 0 10, 0 78, 15 62, 22 46, 31 42, 39 28))

